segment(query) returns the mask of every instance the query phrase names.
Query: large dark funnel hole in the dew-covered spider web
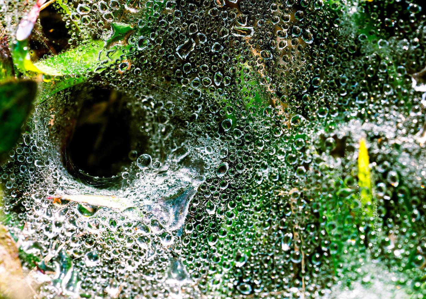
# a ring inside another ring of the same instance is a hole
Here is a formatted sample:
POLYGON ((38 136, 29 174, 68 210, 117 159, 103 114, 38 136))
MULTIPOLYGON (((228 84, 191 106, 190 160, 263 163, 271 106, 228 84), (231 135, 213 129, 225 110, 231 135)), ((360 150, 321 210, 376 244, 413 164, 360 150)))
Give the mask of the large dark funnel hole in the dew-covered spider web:
POLYGON ((107 188, 123 180, 121 172, 132 162, 129 152, 136 143, 138 152, 144 151, 144 143, 140 136, 136 137, 138 134, 132 133, 124 94, 95 88, 86 91, 85 96, 74 132, 66 144, 66 168, 83 183, 107 188), (135 137, 139 142, 135 142, 135 137))

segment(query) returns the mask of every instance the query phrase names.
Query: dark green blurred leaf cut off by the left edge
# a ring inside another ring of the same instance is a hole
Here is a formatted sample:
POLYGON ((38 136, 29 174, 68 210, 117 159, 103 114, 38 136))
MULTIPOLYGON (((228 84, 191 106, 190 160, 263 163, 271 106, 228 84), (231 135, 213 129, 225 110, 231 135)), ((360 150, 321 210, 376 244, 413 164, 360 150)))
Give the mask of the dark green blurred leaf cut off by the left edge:
POLYGON ((0 85, 0 162, 17 142, 21 127, 32 109, 37 84, 33 81, 12 81, 0 85))

